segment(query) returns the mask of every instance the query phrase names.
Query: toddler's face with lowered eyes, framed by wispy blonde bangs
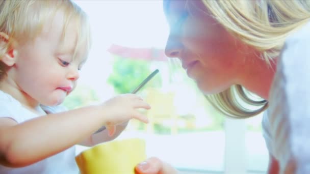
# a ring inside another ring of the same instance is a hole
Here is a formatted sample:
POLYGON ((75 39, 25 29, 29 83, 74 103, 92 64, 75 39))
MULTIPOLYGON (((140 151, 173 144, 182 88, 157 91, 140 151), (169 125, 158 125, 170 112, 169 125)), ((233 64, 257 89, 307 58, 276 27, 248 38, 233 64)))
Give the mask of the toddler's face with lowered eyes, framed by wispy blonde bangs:
POLYGON ((63 102, 74 89, 79 70, 87 59, 86 50, 79 48, 73 59, 77 42, 75 22, 68 24, 65 38, 62 38, 63 24, 63 15, 58 12, 33 42, 16 48, 14 80, 26 97, 43 105, 63 102))

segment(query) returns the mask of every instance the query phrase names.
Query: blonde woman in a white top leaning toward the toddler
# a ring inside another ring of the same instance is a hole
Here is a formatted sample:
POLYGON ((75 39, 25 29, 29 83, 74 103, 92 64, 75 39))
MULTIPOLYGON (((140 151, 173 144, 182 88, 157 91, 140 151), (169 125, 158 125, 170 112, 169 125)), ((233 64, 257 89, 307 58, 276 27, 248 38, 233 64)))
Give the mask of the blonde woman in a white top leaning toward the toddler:
MULTIPOLYGON (((216 108, 230 117, 248 118, 270 106, 262 122, 271 157, 269 173, 307 173, 306 167, 299 166, 300 159, 290 147, 298 147, 298 144, 291 141, 296 134, 288 131, 295 127, 290 127, 291 115, 287 114, 290 112, 286 106, 291 106, 291 100, 286 96, 288 83, 285 82, 292 82, 294 77, 286 76, 290 68, 285 69, 283 65, 294 65, 287 63, 296 57, 287 55, 307 51, 298 46, 307 44, 306 39, 295 33, 310 32, 307 30, 310 26, 306 26, 310 19, 309 4, 302 0, 164 1, 170 25, 166 55, 182 61, 188 76, 216 108), (297 42, 296 46, 296 40, 304 41, 297 42), (285 41, 286 49, 282 49, 285 41), (282 60, 282 57, 288 58, 282 60), (251 94, 261 100, 255 100, 251 94), (252 107, 245 107, 249 105, 252 107)), ((305 67, 302 60, 297 63, 305 67)), ((140 163, 136 170, 149 174, 177 173, 158 158, 140 163)))

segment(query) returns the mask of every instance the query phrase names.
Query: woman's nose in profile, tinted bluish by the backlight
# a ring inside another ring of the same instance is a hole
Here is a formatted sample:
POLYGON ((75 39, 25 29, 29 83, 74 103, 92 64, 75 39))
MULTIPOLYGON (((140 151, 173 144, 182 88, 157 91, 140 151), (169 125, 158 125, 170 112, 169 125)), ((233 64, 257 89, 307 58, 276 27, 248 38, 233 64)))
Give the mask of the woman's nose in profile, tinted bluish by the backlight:
POLYGON ((180 57, 183 49, 182 43, 179 42, 179 38, 176 36, 169 35, 168 41, 165 48, 165 54, 168 57, 180 57))

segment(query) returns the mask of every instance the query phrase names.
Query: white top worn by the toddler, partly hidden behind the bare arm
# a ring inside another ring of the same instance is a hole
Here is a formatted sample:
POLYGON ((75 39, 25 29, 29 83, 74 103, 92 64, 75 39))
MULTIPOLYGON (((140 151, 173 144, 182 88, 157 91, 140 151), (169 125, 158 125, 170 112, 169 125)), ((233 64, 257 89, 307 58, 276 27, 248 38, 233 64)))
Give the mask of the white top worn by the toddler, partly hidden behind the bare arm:
MULTIPOLYGON (((56 113, 66 110, 64 107, 61 106, 55 106, 55 107, 45 106, 42 108, 49 113, 56 113)), ((22 123, 24 121, 40 116, 28 110, 27 108, 23 107, 20 104, 20 102, 14 99, 11 95, 4 93, 3 91, 0 91, 0 117, 11 118, 15 120, 17 123, 22 123)), ((75 147, 73 146, 61 153, 58 153, 54 156, 51 156, 49 158, 46 158, 42 161, 39 161, 26 167, 11 168, 0 165, 0 173, 1 174, 79 173, 79 169, 77 168, 74 157, 75 157, 75 147)))

